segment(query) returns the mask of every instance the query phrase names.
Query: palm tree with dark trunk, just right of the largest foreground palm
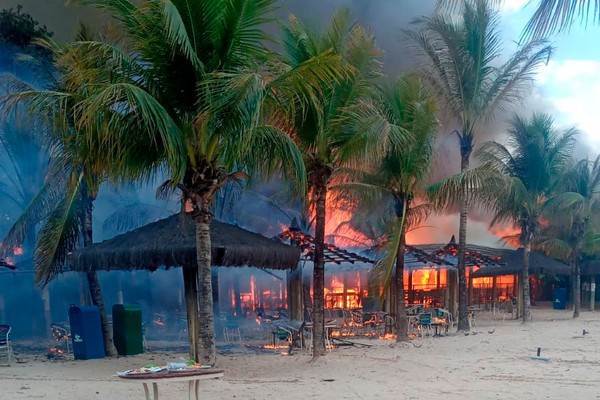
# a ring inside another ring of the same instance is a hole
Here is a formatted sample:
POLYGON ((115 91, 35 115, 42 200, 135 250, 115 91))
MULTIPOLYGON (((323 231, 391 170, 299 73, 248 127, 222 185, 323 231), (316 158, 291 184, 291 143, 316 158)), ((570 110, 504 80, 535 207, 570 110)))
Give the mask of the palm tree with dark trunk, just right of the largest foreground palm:
POLYGON ((298 110, 292 127, 292 137, 304 155, 315 213, 312 316, 316 358, 325 353, 325 220, 332 174, 342 166, 376 159, 390 142, 401 141, 403 132, 387 123, 371 101, 377 95, 374 80, 381 76, 381 51, 374 36, 354 23, 346 10, 338 10, 323 32, 312 31, 291 16, 283 30, 283 43, 290 65, 332 52, 352 71, 310 108, 298 110))

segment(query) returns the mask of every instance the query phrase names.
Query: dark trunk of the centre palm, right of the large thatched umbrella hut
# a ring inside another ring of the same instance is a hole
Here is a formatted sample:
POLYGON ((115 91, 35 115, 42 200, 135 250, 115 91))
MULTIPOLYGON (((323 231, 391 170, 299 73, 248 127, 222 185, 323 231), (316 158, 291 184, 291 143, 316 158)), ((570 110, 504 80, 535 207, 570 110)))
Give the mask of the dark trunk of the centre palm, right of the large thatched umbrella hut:
POLYGON ((314 186, 316 200, 315 254, 313 271, 313 359, 325 354, 325 210, 327 180, 314 186))

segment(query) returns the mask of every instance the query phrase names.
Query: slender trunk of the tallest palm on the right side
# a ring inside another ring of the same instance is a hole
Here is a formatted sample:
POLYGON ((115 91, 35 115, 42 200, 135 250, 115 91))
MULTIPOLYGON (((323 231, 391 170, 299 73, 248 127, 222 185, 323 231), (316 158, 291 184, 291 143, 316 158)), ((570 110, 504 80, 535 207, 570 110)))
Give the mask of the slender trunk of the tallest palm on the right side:
MULTIPOLYGON (((469 169, 471 150, 461 147, 461 172, 469 169)), ((467 218, 469 216, 469 198, 467 187, 462 188, 460 199, 460 224, 458 229, 458 330, 469 330, 469 317, 467 315, 467 274, 466 258, 467 249, 467 218)))

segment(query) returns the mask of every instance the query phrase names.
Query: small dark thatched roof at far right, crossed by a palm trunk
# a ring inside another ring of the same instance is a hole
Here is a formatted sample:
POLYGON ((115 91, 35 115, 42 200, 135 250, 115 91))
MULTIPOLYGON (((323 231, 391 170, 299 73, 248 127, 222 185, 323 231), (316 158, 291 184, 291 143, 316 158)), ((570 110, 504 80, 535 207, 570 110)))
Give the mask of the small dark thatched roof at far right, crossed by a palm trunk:
MULTIPOLYGON (((499 263, 500 265, 486 266, 473 272, 473 278, 520 274, 523 270, 523 249, 505 251, 499 263)), ((560 261, 532 251, 529 254, 529 273, 568 275, 570 268, 560 261)))

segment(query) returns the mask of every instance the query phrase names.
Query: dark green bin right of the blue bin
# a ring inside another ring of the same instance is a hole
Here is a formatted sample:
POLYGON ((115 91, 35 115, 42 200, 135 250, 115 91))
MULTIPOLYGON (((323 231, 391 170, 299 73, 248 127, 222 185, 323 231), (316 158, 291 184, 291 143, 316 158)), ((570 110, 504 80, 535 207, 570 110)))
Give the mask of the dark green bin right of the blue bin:
POLYGON ((113 341, 121 356, 144 352, 140 307, 132 304, 113 305, 113 341))

